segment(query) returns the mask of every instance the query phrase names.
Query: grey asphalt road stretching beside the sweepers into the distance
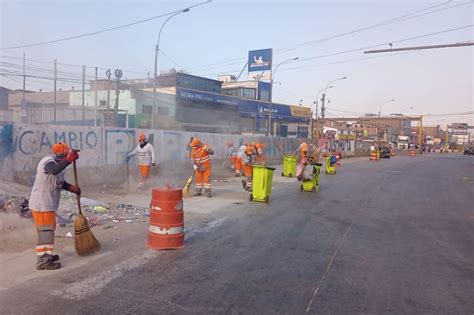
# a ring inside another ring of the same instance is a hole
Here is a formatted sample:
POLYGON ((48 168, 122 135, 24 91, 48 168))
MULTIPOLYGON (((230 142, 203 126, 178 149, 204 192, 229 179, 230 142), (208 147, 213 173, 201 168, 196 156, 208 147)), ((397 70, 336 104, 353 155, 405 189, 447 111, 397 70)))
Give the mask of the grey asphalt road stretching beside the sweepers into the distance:
POLYGON ((474 159, 451 154, 350 161, 316 194, 278 178, 183 251, 132 238, 89 278, 3 292, 0 313, 472 314, 473 192, 474 159))

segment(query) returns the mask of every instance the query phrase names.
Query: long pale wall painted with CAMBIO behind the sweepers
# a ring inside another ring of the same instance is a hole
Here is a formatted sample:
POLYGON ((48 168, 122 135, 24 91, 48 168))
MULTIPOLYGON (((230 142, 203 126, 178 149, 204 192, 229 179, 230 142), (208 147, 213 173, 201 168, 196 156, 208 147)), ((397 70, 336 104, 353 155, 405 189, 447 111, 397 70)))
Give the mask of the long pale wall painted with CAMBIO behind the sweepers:
POLYGON ((50 154, 51 145, 56 142, 65 142, 70 148, 81 151, 79 168, 125 164, 126 155, 137 146, 140 133, 144 133, 153 144, 158 162, 187 161, 191 137, 198 137, 209 144, 215 151, 213 159, 220 160, 227 157, 228 143, 233 143, 235 148, 244 142, 264 143, 266 155, 275 160, 280 160, 282 154, 292 153, 298 147, 297 139, 294 138, 24 123, 0 125, 0 128, 3 135, 0 171, 2 176, 5 170, 13 173, 9 178, 15 178, 14 173, 34 176, 38 162, 50 154))

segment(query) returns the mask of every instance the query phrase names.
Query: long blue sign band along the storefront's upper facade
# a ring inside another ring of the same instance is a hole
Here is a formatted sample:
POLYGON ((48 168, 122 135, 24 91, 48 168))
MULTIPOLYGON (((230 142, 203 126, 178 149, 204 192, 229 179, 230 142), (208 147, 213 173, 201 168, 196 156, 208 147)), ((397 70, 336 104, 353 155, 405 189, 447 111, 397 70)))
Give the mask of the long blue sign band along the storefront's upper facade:
MULTIPOLYGON (((239 106, 240 116, 242 117, 268 118, 268 113, 270 112, 270 104, 267 102, 247 100, 191 89, 176 88, 176 97, 188 101, 239 106)), ((272 118, 276 120, 284 120, 285 122, 309 123, 309 118, 307 117, 292 116, 289 105, 276 103, 272 104, 272 118)))

